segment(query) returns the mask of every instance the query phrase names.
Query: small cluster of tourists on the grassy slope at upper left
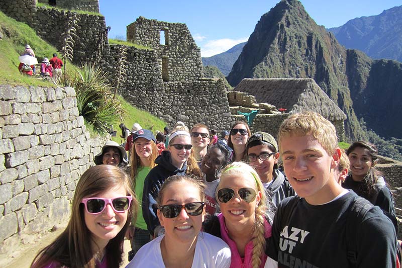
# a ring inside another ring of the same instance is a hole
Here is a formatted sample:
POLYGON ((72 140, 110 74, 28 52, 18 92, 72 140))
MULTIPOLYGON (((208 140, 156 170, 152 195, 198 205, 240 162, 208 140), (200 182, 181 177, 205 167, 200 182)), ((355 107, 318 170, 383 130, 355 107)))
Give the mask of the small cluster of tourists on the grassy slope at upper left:
MULTIPOLYGON (((25 46, 24 52, 20 57, 20 65, 18 66, 19 71, 22 74, 35 75, 36 74, 36 64, 38 63, 35 52, 30 45, 25 46)), ((40 75, 44 79, 50 79, 54 83, 58 83, 62 76, 61 67, 63 66, 63 61, 57 57, 57 53, 53 54, 53 57, 49 60, 48 58, 43 58, 40 68, 40 75)))

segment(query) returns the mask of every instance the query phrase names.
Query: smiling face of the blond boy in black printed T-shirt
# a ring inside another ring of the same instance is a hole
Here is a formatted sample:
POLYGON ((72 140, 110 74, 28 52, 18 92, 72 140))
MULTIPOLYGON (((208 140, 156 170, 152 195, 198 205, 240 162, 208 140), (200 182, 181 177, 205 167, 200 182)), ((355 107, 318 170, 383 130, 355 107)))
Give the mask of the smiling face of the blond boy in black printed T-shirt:
POLYGON ((334 155, 329 155, 312 135, 283 136, 280 148, 285 174, 299 197, 319 205, 331 201, 342 191, 333 173, 340 156, 339 148, 334 155))

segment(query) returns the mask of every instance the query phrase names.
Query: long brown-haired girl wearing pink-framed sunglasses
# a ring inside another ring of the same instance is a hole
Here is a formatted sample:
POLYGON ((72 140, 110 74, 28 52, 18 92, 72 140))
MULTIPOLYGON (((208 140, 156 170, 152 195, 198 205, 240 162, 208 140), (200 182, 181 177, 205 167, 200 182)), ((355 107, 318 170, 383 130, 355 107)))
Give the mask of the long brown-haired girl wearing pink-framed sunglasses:
POLYGON ((132 189, 129 175, 116 166, 86 170, 75 189, 67 228, 31 267, 120 267, 124 236, 137 214, 132 189))

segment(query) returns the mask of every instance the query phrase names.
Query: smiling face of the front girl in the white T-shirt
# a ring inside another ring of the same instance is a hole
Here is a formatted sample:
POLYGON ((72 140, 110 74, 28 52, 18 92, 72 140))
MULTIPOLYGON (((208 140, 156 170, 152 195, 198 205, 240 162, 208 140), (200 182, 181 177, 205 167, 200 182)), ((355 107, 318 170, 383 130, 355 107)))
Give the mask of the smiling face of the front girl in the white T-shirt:
MULTIPOLYGON (((163 193, 161 205, 184 205, 191 202, 203 202, 198 188, 192 183, 178 181, 171 183, 163 193)), ((165 218, 160 210, 157 211, 159 222, 165 228, 165 238, 169 242, 192 243, 201 230, 204 214, 188 215, 184 209, 175 218, 165 218)))

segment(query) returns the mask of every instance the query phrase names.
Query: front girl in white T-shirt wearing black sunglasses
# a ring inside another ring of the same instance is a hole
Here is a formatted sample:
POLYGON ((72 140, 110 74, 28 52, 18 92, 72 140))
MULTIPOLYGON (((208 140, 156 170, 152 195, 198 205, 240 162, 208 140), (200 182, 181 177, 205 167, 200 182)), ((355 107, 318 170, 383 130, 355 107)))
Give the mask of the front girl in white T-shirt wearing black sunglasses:
POLYGON ((200 232, 205 216, 205 186, 196 178, 167 178, 157 198, 157 215, 165 234, 144 245, 132 267, 229 267, 228 245, 200 232))

